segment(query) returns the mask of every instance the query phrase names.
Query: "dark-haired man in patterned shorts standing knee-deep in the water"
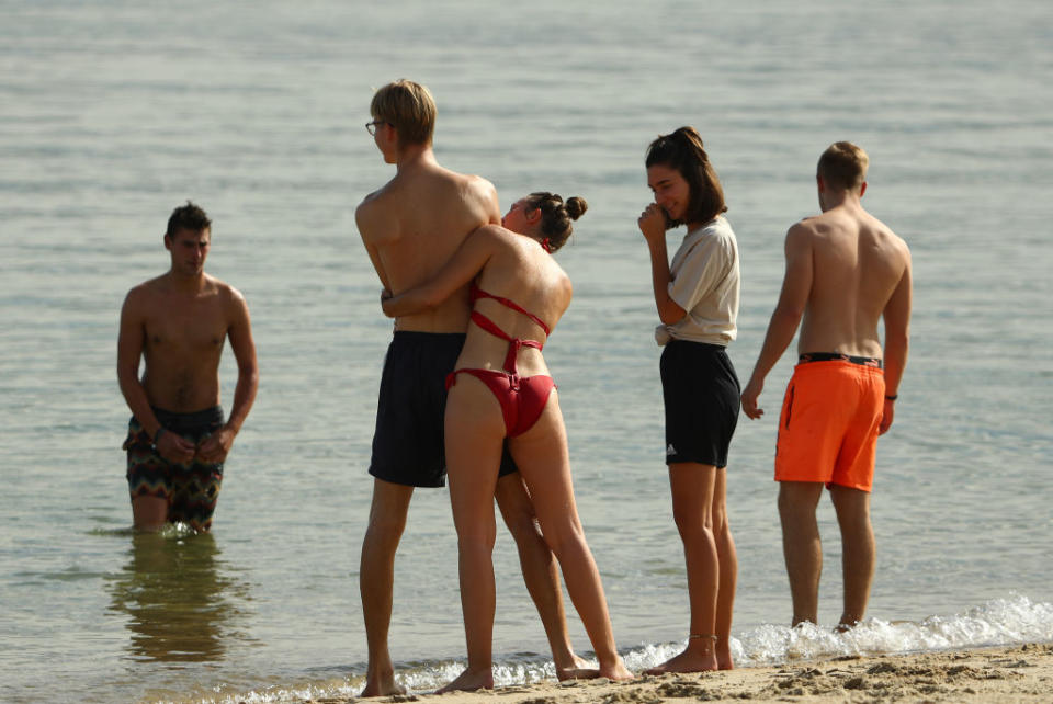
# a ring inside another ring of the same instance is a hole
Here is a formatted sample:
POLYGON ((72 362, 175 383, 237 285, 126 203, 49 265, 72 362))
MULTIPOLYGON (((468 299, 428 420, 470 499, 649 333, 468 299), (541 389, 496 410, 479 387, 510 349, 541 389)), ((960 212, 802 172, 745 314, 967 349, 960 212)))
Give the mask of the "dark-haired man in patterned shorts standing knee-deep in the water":
POLYGON ((234 287, 204 272, 211 243, 205 212, 190 202, 176 208, 165 232, 171 269, 129 291, 121 310, 117 381, 132 409, 124 448, 140 531, 174 521, 211 527, 223 463, 256 399, 249 308, 234 287), (227 338, 238 384, 224 422, 219 357, 227 338))

